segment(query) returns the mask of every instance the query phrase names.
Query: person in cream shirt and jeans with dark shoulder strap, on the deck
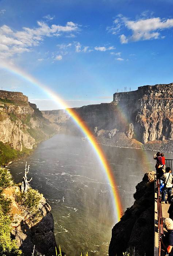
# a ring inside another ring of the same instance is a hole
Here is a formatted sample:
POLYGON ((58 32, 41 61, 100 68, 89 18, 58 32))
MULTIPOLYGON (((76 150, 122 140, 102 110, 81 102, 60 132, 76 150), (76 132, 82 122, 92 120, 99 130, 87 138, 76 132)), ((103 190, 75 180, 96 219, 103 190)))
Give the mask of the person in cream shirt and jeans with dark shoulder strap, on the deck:
POLYGON ((161 179, 164 181, 165 185, 162 189, 162 204, 165 203, 165 195, 168 193, 168 198, 166 203, 171 203, 171 192, 172 192, 172 172, 170 167, 166 167, 166 173, 164 173, 161 177, 161 179))

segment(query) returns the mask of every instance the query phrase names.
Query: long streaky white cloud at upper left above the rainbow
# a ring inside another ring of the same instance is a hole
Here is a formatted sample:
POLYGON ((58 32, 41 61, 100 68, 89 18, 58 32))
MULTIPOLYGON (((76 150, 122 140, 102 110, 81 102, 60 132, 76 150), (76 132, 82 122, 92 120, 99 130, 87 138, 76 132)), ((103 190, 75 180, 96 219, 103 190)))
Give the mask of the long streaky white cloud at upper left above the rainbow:
MULTIPOLYGON (((50 17, 49 17, 50 18, 50 17)), ((45 22, 37 22, 36 28, 23 27, 20 31, 14 31, 9 26, 0 27, 0 58, 9 58, 14 54, 29 52, 33 46, 38 46, 45 37, 58 37, 78 30, 78 25, 67 22, 65 26, 47 25, 45 22)), ((72 44, 65 45, 65 48, 72 44)), ((64 47, 61 45, 60 47, 64 47)))

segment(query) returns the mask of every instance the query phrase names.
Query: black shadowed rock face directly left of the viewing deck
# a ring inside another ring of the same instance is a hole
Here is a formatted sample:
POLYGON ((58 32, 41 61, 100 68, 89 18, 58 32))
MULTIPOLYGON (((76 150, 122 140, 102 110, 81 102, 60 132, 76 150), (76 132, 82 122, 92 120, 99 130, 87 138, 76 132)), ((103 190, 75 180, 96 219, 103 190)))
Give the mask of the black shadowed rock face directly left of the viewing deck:
POLYGON ((109 256, 123 256, 129 248, 140 256, 154 255, 154 173, 144 175, 136 186, 134 204, 113 227, 109 256))

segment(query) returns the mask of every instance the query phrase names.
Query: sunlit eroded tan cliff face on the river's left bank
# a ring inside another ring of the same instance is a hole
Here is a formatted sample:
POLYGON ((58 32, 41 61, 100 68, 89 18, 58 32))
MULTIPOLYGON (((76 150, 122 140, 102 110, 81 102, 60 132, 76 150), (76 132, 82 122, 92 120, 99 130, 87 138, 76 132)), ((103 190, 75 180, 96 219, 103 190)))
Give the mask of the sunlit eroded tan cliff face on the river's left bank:
POLYGON ((55 127, 22 93, 0 91, 0 141, 22 151, 49 138, 55 127))

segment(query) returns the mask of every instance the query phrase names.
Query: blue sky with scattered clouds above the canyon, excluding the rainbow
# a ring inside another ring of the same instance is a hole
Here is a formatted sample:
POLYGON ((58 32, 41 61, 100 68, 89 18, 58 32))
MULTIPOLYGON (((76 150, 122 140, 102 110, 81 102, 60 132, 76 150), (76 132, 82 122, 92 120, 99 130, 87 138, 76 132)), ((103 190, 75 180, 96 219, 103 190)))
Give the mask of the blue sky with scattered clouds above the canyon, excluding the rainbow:
MULTIPOLYGON (((0 1, 0 62, 49 86, 69 106, 111 102, 117 90, 173 82, 173 1, 0 1)), ((0 86, 39 109, 41 89, 0 68, 0 86)))

